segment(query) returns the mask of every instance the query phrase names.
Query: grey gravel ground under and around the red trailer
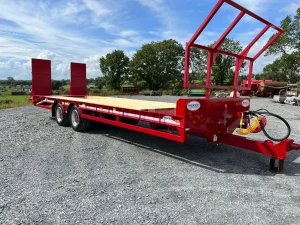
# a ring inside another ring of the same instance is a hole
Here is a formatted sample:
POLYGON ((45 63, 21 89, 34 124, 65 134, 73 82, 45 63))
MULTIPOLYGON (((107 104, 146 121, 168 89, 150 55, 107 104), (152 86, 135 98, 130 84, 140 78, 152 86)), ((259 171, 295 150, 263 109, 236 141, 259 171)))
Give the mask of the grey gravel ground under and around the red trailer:
MULTIPOLYGON (((284 116, 300 141, 300 107, 251 104, 284 116)), ((299 224, 298 151, 276 174, 267 156, 200 138, 180 144, 108 125, 76 133, 49 116, 0 110, 1 224, 299 224)))

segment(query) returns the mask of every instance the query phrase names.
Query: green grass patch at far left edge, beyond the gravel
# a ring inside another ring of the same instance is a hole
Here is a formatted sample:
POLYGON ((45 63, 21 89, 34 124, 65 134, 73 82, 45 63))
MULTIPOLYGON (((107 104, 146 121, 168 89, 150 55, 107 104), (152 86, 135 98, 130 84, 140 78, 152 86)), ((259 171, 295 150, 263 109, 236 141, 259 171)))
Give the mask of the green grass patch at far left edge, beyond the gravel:
POLYGON ((31 105, 29 95, 0 95, 0 109, 31 105))

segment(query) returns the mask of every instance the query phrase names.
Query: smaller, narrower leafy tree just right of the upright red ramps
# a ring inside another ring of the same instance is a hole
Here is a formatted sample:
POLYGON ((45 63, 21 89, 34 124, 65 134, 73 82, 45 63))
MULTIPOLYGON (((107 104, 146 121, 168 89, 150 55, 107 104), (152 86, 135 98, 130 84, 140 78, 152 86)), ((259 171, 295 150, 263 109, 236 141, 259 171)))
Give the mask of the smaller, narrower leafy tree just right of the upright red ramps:
POLYGON ((128 76, 129 58, 122 50, 115 50, 100 58, 100 70, 109 89, 120 90, 128 76))

